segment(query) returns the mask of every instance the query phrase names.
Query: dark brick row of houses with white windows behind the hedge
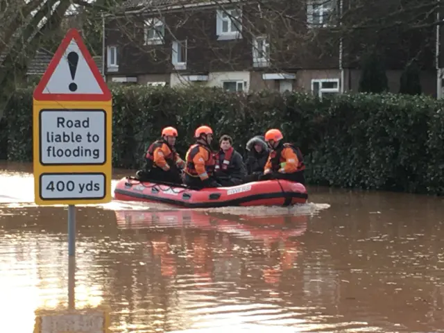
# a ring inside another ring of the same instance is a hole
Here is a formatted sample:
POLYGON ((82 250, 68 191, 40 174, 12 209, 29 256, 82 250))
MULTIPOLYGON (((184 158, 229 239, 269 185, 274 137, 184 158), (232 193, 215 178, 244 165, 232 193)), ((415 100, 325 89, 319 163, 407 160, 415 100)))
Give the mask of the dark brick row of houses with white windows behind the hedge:
MULTIPOLYGON (((357 91, 359 60, 366 47, 376 47, 391 92, 398 92, 404 66, 416 58, 423 92, 436 96, 434 26, 379 35, 367 29, 339 38, 338 13, 350 0, 298 1, 127 1, 120 14, 104 19, 105 76, 108 82, 322 96, 357 91)), ((375 1, 384 10, 386 2, 375 1)))

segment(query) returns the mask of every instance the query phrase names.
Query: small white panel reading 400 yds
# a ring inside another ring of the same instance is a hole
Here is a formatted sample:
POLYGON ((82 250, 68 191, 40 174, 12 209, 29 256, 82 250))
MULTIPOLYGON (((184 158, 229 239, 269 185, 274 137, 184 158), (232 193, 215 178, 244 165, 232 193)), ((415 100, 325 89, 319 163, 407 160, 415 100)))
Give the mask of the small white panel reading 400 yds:
POLYGON ((102 199, 106 194, 103 173, 42 173, 40 198, 102 199))

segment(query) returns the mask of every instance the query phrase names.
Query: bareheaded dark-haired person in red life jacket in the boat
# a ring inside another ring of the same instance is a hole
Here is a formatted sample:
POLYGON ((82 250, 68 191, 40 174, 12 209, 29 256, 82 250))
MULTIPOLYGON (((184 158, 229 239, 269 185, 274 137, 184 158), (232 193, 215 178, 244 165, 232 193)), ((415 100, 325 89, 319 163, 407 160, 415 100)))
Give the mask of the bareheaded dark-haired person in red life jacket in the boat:
POLYGON ((241 185, 246 177, 246 167, 242 155, 232 147, 233 139, 222 135, 219 139, 219 152, 216 153, 214 176, 222 186, 241 185))

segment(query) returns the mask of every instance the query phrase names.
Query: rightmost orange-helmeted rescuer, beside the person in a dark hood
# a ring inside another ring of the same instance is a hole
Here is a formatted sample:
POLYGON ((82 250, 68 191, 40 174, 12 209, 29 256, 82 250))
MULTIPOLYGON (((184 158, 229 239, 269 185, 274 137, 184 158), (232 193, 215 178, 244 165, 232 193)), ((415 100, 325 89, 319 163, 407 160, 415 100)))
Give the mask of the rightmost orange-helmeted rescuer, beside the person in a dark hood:
POLYGON ((264 167, 264 175, 259 180, 285 179, 305 185, 304 158, 300 149, 293 144, 284 143, 284 136, 278 129, 268 130, 265 140, 271 151, 264 167))

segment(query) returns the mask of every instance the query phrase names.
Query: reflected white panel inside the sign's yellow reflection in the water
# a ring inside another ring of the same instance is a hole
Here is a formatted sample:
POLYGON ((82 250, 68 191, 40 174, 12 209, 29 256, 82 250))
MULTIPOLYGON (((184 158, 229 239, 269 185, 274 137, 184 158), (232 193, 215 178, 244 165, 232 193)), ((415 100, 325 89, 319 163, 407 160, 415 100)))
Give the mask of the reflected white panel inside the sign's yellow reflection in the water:
POLYGON ((42 316, 41 333, 103 333, 103 314, 42 316))

